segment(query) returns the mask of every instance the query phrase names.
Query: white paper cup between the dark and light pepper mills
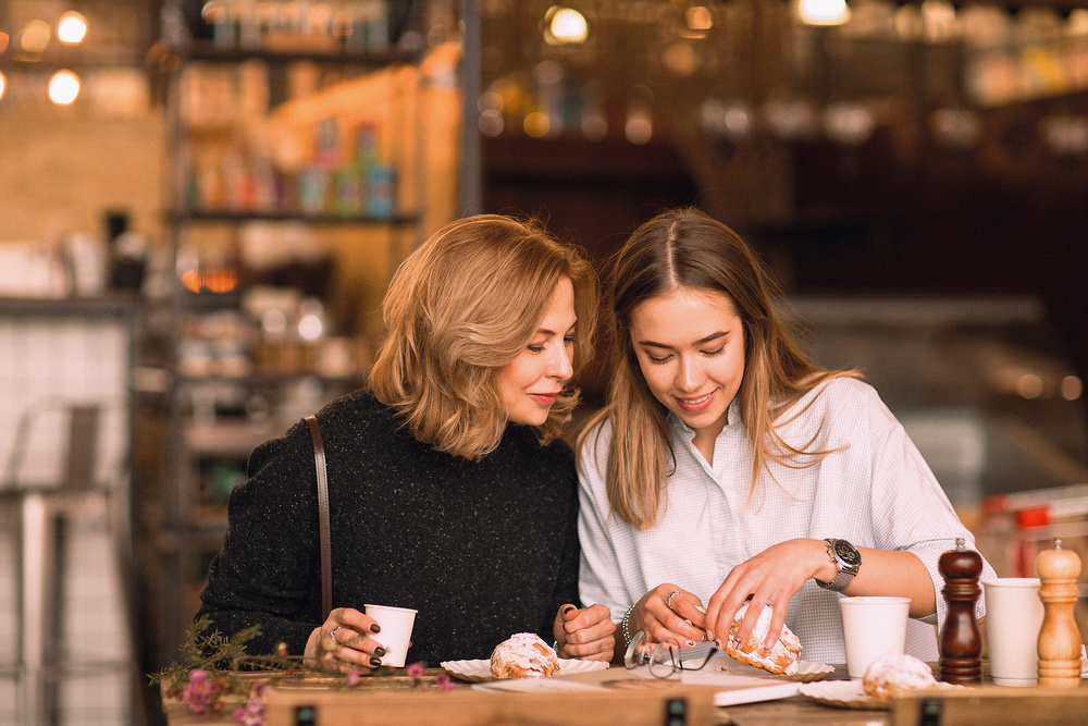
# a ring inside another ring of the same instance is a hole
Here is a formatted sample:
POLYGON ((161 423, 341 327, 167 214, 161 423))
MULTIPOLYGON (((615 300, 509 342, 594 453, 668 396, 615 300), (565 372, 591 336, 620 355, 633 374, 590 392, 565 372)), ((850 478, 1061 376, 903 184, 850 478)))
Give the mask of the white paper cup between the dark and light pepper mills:
POLYGON ((1035 686, 1039 682, 1039 630, 1046 612, 1039 599, 1039 578, 999 577, 981 585, 990 677, 998 686, 1035 686))

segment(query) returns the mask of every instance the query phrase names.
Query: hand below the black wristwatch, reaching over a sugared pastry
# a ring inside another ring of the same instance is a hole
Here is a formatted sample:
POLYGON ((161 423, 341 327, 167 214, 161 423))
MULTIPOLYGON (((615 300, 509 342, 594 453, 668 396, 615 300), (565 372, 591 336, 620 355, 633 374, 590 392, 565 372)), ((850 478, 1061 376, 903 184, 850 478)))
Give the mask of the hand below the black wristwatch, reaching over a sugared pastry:
POLYGON ((823 540, 787 540, 771 545, 745 563, 733 567, 706 605, 706 632, 719 644, 728 642, 737 610, 749 598, 752 606, 737 631, 747 642, 765 603, 775 605, 765 644, 771 648, 786 625, 786 611, 801 586, 830 565, 823 540))

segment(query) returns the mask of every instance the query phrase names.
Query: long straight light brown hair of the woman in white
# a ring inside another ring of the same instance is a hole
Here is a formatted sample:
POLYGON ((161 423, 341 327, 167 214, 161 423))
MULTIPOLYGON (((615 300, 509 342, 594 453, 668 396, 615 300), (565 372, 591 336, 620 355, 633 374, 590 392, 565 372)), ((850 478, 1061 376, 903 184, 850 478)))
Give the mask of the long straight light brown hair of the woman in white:
MULTIPOLYGON (((642 224, 610 260, 606 284, 611 380, 608 403, 588 422, 585 438, 613 422, 605 482, 613 512, 636 528, 652 527, 664 504, 676 456, 668 409, 651 392, 631 342, 632 312, 679 287, 712 291, 732 300, 744 331, 744 377, 737 396, 752 443, 752 485, 769 460, 809 466, 830 451, 813 440, 795 447, 776 431, 779 414, 814 387, 854 371, 829 371, 811 362, 774 306, 778 290, 752 248, 731 229, 694 208, 658 214, 642 224)), ((820 427, 823 429, 823 426, 820 427)), ((580 466, 591 463, 580 462, 580 466)))

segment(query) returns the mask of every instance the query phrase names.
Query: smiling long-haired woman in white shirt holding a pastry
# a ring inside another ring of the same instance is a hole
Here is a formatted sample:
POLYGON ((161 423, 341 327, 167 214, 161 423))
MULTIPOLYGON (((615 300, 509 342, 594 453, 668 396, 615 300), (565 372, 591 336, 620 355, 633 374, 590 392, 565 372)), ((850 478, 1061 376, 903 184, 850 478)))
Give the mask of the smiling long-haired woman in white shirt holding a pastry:
POLYGON ((767 644, 784 623, 803 659, 844 663, 843 593, 910 598, 907 650, 936 660, 937 561, 974 540, 877 393, 800 352, 751 248, 670 211, 619 250, 608 292, 613 379, 580 438, 579 532, 582 598, 623 614, 617 654, 638 630, 724 643, 751 599, 742 642, 771 603, 767 644))

